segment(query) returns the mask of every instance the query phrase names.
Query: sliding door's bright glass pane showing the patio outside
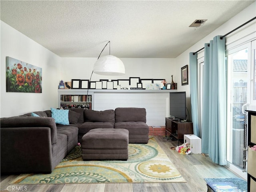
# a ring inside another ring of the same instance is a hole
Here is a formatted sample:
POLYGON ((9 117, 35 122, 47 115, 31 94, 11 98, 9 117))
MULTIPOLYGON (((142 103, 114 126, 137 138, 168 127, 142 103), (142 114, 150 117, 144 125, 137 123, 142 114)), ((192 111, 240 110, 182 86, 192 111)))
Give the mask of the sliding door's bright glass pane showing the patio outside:
POLYGON ((227 160, 243 168, 244 158, 244 114, 243 106, 250 98, 250 43, 228 52, 227 83, 227 160))

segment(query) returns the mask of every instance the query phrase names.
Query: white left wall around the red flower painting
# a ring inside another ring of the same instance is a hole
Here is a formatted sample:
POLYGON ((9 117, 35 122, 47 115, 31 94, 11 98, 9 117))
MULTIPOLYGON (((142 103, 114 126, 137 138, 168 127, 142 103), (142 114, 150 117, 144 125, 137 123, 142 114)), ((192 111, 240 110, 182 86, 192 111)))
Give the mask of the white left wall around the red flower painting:
POLYGON ((1 117, 58 106, 60 57, 1 21, 1 117), (6 56, 42 68, 42 93, 6 92, 6 56))

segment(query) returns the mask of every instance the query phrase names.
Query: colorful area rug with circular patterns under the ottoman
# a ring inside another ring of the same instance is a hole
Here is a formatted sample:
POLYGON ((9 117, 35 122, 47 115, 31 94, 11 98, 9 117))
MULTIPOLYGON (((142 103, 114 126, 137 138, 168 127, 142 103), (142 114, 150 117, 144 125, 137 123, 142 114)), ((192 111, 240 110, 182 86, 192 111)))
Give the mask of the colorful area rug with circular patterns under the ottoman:
POLYGON ((83 161, 76 146, 51 174, 21 174, 12 184, 186 182, 154 138, 128 151, 127 161, 83 161))

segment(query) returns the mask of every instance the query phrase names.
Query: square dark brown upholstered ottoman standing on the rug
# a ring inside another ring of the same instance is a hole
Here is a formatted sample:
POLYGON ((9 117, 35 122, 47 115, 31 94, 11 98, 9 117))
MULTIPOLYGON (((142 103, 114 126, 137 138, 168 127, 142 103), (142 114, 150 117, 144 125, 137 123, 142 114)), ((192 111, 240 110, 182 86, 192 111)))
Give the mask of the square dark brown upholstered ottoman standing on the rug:
POLYGON ((127 160, 129 131, 126 129, 92 129, 82 137, 83 160, 127 160))

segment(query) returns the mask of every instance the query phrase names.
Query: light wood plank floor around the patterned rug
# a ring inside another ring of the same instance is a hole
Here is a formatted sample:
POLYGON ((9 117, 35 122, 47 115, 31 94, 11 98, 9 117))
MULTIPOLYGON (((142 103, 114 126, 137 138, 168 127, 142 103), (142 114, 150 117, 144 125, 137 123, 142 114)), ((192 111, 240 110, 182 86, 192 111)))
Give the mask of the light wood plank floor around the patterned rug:
MULTIPOLYGON (((207 192, 204 178, 238 177, 224 166, 212 163, 202 154, 182 155, 170 147, 177 141, 154 136, 186 183, 114 183, 114 184, 9 184, 16 175, 1 176, 1 191, 26 192, 207 192), (13 189, 13 190, 12 190, 13 189)), ((181 144, 181 142, 180 142, 181 144)))

